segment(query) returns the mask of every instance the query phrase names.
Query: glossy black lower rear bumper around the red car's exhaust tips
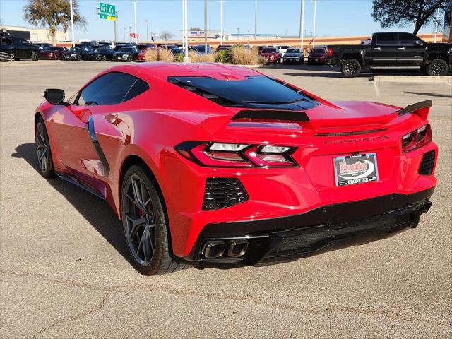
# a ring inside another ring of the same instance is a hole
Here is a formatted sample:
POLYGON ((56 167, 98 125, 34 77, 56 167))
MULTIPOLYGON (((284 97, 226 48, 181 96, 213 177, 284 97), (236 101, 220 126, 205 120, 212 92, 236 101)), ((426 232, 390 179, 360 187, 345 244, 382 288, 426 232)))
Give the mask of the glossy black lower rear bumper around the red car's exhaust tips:
POLYGON ((415 194, 390 194, 362 201, 315 208, 283 218, 206 225, 189 256, 190 261, 263 264, 313 256, 355 244, 366 244, 417 227, 429 210, 434 187, 415 194), (246 239, 241 258, 204 258, 206 242, 246 239))

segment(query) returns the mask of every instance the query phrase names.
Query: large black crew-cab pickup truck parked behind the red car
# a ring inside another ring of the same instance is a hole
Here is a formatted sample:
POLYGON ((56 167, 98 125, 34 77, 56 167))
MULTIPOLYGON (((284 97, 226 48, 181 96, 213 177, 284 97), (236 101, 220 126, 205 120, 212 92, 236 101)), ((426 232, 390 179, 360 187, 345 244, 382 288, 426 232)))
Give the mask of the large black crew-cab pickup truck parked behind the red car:
POLYGON ((371 44, 328 46, 328 64, 353 78, 363 67, 420 66, 427 76, 445 76, 452 66, 452 44, 429 44, 410 33, 374 33, 371 44))

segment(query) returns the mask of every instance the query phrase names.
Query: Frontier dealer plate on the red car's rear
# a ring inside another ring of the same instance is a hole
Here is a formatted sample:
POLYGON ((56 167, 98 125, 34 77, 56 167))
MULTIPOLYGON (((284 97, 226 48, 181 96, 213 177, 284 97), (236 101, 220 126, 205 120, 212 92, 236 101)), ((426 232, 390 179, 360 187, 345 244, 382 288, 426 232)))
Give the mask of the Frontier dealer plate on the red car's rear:
POLYGON ((376 182, 379 179, 376 154, 366 153, 335 157, 334 172, 336 186, 376 182))

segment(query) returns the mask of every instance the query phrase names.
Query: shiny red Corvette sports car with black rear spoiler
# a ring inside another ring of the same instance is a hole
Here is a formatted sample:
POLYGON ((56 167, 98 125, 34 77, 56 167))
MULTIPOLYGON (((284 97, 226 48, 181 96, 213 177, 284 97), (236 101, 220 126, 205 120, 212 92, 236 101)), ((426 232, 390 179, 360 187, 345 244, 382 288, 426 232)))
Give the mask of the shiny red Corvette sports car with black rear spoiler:
POLYGON ((239 66, 165 63, 44 97, 41 174, 107 200, 146 275, 364 244, 431 206, 431 101, 328 102, 239 66))

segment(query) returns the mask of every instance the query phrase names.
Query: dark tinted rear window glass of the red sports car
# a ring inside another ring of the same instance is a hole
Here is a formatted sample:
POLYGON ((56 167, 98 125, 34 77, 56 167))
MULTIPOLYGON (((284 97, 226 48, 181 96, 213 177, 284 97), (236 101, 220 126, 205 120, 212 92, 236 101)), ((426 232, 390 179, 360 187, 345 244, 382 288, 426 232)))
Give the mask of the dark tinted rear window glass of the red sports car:
POLYGON ((227 81, 208 77, 170 77, 170 83, 225 106, 306 109, 316 105, 301 91, 267 76, 227 81), (279 105, 279 106, 276 106, 279 105))

